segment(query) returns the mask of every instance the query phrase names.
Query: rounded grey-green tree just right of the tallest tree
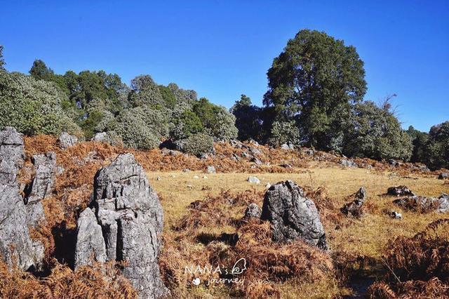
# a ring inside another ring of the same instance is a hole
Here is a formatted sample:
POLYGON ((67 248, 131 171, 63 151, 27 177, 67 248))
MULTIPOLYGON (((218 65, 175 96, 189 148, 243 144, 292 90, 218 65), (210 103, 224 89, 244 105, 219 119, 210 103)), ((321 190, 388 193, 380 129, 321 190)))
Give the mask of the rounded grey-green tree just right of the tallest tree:
POLYGON ((377 107, 370 101, 358 103, 344 127, 342 152, 347 156, 410 159, 413 150, 410 137, 389 107, 377 107))

